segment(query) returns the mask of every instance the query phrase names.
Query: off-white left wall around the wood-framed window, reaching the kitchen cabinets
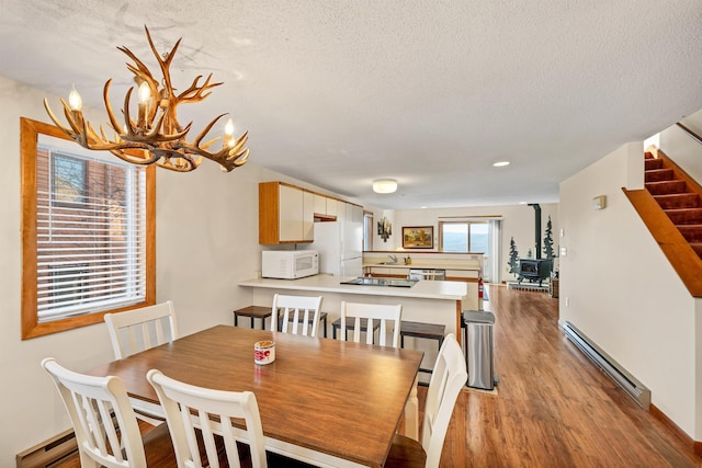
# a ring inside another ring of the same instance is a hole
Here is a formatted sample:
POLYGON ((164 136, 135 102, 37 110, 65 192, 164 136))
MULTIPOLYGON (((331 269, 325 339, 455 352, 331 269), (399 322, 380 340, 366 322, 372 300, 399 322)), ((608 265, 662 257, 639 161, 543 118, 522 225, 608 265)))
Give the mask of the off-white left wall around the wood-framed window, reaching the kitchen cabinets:
MULTIPOLYGON (((45 96, 0 77, 0 467, 14 466, 15 454, 70 426, 42 358, 77 370, 113 359, 103 323, 20 339, 20 116, 50 122, 45 96)), ((102 113, 88 115, 106 122, 102 113)), ((251 304, 250 289, 236 285, 260 270, 258 183, 284 180, 324 192, 254 161, 231 173, 208 161, 185 174, 157 171, 157 300, 174 301, 182 334, 231 323, 231 310, 251 304)))

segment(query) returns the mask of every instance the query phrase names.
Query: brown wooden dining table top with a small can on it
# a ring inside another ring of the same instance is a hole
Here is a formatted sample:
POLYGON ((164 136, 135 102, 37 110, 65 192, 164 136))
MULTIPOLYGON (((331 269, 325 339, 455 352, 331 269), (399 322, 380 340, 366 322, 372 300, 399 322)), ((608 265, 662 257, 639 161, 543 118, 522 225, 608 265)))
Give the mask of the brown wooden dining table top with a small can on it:
POLYGON ((150 369, 188 384, 256 393, 263 433, 315 453, 383 466, 422 353, 268 330, 217 326, 87 372, 122 379, 131 397, 158 403, 150 369), (257 341, 275 362, 257 365, 257 341))

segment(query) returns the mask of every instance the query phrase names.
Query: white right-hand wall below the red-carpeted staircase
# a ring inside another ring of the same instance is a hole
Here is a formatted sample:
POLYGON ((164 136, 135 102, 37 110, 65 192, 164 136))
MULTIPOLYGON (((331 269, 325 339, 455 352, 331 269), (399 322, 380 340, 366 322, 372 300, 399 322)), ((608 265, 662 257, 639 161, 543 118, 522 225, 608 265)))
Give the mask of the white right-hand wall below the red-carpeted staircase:
POLYGON ((621 187, 642 186, 643 144, 613 151, 561 184, 561 320, 570 321, 652 391, 652 402, 700 440, 695 299, 621 187), (607 195, 608 206, 591 208, 607 195))

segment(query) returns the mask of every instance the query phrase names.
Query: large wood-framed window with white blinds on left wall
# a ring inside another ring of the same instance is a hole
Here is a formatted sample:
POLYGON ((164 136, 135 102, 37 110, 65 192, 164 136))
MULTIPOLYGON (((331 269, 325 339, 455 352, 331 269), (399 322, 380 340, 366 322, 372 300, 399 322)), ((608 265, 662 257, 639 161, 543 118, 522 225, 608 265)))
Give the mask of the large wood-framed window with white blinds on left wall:
POLYGON ((155 304, 154 168, 22 119, 22 339, 155 304))

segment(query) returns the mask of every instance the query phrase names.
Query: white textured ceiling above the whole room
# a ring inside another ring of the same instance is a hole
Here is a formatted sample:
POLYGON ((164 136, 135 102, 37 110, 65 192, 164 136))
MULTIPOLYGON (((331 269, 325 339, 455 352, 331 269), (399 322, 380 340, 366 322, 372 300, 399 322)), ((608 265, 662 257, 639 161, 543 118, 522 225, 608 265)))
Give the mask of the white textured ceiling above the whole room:
POLYGON ((183 38, 177 87, 224 82, 179 110, 193 134, 229 112, 250 162, 385 208, 557 202, 564 179, 702 109, 700 0, 0 0, 0 75, 75 83, 97 109, 113 78, 120 109, 116 46, 156 68, 144 25, 161 50, 183 38), (378 178, 398 191, 373 194, 378 178))

